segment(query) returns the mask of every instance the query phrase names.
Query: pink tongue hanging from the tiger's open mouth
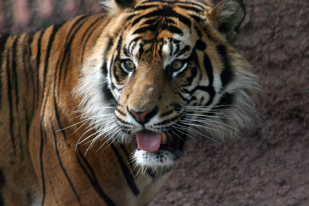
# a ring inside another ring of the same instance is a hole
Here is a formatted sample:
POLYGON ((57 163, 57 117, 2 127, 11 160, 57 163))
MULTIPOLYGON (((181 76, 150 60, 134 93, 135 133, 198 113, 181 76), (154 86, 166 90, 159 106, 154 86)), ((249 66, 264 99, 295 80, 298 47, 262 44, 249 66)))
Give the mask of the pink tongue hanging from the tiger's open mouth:
POLYGON ((136 132, 137 145, 144 151, 155 152, 160 147, 161 135, 161 133, 149 131, 146 129, 136 132))

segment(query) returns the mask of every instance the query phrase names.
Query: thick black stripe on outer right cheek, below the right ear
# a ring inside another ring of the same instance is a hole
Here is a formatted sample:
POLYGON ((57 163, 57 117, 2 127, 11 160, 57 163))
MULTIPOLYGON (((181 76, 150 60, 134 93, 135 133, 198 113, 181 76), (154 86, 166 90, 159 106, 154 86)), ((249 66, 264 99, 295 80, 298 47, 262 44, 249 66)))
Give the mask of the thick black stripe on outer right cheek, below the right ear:
POLYGON ((224 88, 226 86, 226 84, 231 82, 231 80, 234 77, 234 73, 231 69, 231 64, 230 64, 230 61, 227 57, 227 52, 226 52, 225 46, 217 45, 216 48, 217 48, 218 53, 221 56, 221 62, 223 64, 223 70, 222 70, 220 77, 221 77, 221 81, 222 81, 222 87, 224 88))

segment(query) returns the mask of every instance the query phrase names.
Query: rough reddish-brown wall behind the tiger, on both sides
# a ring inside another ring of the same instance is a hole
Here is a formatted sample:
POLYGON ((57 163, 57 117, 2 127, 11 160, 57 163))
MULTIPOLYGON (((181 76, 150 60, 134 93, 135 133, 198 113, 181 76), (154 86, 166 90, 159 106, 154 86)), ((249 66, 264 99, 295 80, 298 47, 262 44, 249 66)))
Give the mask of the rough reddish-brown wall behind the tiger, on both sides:
MULTIPOLYGON (((244 2, 234 45, 264 90, 262 120, 238 141, 189 141, 152 206, 309 203, 309 1, 244 2)), ((100 11, 98 0, 0 0, 0 31, 35 31, 100 11)))

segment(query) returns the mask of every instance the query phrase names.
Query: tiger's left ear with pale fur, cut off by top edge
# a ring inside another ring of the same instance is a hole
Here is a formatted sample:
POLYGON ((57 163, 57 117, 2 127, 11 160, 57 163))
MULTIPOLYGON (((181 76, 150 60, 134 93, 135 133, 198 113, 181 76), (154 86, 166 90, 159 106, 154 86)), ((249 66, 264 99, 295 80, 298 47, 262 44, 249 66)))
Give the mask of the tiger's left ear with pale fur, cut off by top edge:
POLYGON ((105 0, 101 2, 111 15, 119 14, 122 10, 133 7, 134 3, 134 0, 105 0))

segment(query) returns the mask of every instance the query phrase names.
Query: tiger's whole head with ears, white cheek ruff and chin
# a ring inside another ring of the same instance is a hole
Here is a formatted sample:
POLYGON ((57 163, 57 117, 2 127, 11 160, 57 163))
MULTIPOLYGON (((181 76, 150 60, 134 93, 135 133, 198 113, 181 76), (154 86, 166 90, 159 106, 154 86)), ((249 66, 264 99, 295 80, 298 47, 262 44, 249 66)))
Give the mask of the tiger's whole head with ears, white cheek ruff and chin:
POLYGON ((241 0, 104 4, 111 18, 78 87, 93 142, 132 143, 137 165, 168 170, 188 137, 222 141, 252 125, 258 85, 231 44, 241 0))

